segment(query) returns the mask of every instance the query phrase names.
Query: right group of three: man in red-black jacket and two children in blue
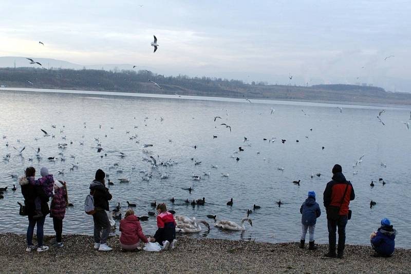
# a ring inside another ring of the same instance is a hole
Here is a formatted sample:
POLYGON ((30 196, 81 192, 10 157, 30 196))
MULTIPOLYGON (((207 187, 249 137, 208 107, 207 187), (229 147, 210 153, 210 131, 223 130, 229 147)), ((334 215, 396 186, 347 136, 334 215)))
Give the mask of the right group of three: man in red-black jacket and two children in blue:
MULTIPOLYGON (((342 173, 340 165, 332 168, 332 180, 327 183, 324 190, 324 207, 327 212, 328 244, 329 250, 325 257, 344 258, 345 249, 345 227, 351 219, 350 201, 355 199, 354 189, 351 182, 347 181, 342 173), (338 246, 337 246, 338 228, 338 246), (337 248, 337 252, 336 249, 337 248)), ((302 213, 302 233, 300 248, 304 248, 307 230, 310 233, 309 250, 315 250, 314 229, 316 219, 321 215, 321 209, 315 202, 315 192, 309 191, 308 198, 300 208, 302 213)), ((395 236, 397 231, 386 218, 381 220, 381 227, 371 233, 371 246, 375 250, 375 257, 389 257, 395 250, 395 236)))

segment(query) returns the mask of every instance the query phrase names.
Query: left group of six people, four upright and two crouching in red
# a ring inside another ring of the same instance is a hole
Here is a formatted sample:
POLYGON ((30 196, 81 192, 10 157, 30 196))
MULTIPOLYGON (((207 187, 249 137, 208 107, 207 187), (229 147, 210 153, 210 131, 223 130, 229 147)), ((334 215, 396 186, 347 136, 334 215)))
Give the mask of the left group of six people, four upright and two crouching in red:
MULTIPOLYGON (((112 195, 105 186, 105 173, 103 170, 96 171, 95 180, 90 184, 90 194, 94 200, 95 211, 92 214, 94 221, 94 248, 99 251, 110 251, 113 248, 107 245, 108 234, 111 229, 106 211, 109 210, 109 202, 112 195)), ((55 239, 50 242, 53 247, 63 247, 62 231, 63 219, 68 204, 66 182, 54 182, 53 175, 48 173, 47 168, 41 168, 41 178, 35 179, 35 169, 28 167, 25 177, 19 179, 24 197, 24 214, 27 215, 29 226, 27 228, 27 248, 30 252, 36 249, 38 252, 46 251, 48 246, 43 243, 43 226, 47 214, 53 219, 55 239), (54 193, 53 193, 54 192, 54 193), (48 206, 51 198, 50 207, 48 206), (38 245, 33 245, 34 226, 37 225, 38 245)), ((22 210, 21 210, 22 211, 22 210)), ((144 243, 157 242, 161 249, 174 249, 176 240, 176 222, 173 214, 167 211, 165 204, 157 205, 158 229, 152 238, 146 238, 142 232, 138 217, 133 209, 127 209, 125 218, 120 221, 120 244, 123 251, 139 250, 140 240, 144 243)))

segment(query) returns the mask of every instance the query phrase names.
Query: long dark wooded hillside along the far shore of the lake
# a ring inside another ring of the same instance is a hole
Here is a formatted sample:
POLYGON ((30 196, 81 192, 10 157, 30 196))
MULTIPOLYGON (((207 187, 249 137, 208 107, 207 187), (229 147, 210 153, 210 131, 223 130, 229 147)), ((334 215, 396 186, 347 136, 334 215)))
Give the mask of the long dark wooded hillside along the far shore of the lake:
POLYGON ((210 77, 186 75, 164 77, 148 70, 0 68, 0 84, 8 87, 411 105, 410 93, 386 92, 379 87, 357 85, 302 87, 262 83, 249 85, 242 81, 210 77), (161 89, 149 82, 149 79, 158 83, 161 89))

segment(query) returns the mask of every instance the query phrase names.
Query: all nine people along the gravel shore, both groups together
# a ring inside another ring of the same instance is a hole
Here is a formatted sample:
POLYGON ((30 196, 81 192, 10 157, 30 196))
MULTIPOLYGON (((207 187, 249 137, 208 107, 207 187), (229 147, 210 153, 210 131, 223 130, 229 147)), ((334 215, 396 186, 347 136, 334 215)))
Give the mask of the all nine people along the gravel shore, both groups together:
MULTIPOLYGON (((330 258, 340 258, 344 256, 345 249, 345 227, 351 217, 349 210, 350 201, 354 200, 355 194, 351 182, 347 181, 342 173, 340 165, 332 168, 332 180, 327 183, 324 190, 324 206, 327 212, 328 243, 329 250, 324 255, 330 258), (338 246, 337 246, 338 228, 338 246), (336 251, 337 249, 337 251, 336 251)), ((22 193, 25 199, 25 212, 28 216, 29 226, 27 228, 27 248, 30 252, 35 249, 32 243, 34 226, 37 225, 37 251, 48 250, 49 247, 43 244, 43 225, 48 213, 53 218, 53 226, 56 238, 53 243, 55 247, 63 247, 62 229, 68 195, 66 182, 54 182, 53 175, 48 173, 47 168, 41 169, 42 177, 35 180, 35 169, 28 167, 26 176, 20 178, 22 193), (52 193, 54 190, 54 194, 52 193), (49 199, 52 198, 50 208, 49 199)), ((94 199, 95 210, 92 213, 94 221, 94 248, 99 251, 110 251, 113 248, 107 245, 108 234, 111 225, 106 211, 109 210, 109 202, 112 195, 105 185, 105 173, 103 170, 96 171, 95 180, 90 184, 90 195, 94 199)), ((309 231, 309 249, 315 250, 314 229, 316 219, 321 215, 321 209, 315 202, 315 192, 309 191, 308 198, 300 208, 302 213, 302 234, 300 248, 305 247, 305 238, 309 231)), ((120 221, 120 244, 123 251, 139 250, 140 240, 144 243, 157 242, 161 249, 174 249, 176 240, 176 222, 173 214, 167 211, 165 204, 157 205, 157 226, 158 229, 152 238, 146 238, 139 219, 134 214, 133 209, 127 209, 125 217, 120 221)), ((381 220, 381 227, 378 231, 371 233, 371 246, 375 250, 375 256, 391 256, 395 248, 396 230, 386 218, 381 220)))

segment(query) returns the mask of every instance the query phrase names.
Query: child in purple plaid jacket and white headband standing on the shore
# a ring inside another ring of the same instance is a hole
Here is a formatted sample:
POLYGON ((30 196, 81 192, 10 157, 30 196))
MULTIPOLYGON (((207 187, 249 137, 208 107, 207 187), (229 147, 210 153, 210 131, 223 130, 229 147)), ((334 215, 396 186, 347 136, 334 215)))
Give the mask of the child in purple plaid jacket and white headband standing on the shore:
POLYGON ((55 231, 55 242, 53 243, 53 247, 63 247, 63 219, 66 214, 67 200, 66 182, 55 182, 54 195, 50 204, 50 217, 53 218, 53 227, 55 231))

